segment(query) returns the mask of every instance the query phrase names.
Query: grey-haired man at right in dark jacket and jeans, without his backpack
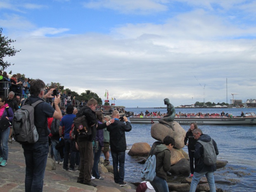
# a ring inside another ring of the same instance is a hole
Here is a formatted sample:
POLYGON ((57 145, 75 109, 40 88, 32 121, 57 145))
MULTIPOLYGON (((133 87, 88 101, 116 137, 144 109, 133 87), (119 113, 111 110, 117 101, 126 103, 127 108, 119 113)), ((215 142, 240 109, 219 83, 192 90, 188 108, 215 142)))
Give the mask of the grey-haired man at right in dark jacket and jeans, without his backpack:
POLYGON ((200 142, 210 144, 210 146, 213 145, 216 155, 219 154, 217 144, 213 139, 211 139, 209 135, 203 134, 201 129, 195 129, 193 132, 193 136, 198 141, 196 143, 195 151, 194 151, 195 168, 194 168, 194 175, 192 178, 192 182, 190 185, 190 192, 196 191, 197 184, 199 183, 200 179, 204 175, 206 176, 207 182, 210 186, 210 192, 216 192, 214 175, 213 175, 214 171, 216 171, 216 164, 213 164, 213 165, 205 164, 204 150, 206 150, 206 148, 208 149, 208 147, 203 147, 203 145, 205 144, 201 144, 200 142))

